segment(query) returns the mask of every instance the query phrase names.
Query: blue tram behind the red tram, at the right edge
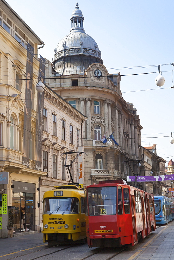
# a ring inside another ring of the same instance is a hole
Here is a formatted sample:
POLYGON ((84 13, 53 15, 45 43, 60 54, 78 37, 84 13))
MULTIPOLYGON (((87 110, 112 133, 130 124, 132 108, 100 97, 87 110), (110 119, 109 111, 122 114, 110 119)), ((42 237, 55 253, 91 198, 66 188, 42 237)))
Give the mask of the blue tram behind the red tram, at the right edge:
POLYGON ((154 196, 156 224, 168 224, 174 219, 174 201, 165 196, 154 196))

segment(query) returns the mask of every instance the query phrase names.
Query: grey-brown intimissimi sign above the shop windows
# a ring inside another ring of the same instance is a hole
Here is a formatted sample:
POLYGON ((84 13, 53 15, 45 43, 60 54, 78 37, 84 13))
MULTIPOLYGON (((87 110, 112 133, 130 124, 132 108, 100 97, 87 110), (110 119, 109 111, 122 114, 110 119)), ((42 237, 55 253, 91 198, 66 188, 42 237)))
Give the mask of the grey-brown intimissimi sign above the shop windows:
POLYGON ((22 182, 22 181, 14 181, 13 180, 13 192, 27 192, 27 193, 35 193, 35 184, 34 183, 28 183, 28 182, 22 182))

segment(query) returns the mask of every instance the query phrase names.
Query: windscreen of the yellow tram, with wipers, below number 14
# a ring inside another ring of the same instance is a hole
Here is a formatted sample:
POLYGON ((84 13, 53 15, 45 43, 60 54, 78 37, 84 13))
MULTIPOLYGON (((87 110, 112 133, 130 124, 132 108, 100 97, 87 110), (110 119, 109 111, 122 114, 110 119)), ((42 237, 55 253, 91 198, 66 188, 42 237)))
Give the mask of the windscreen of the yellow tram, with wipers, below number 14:
POLYGON ((78 214, 78 198, 45 198, 43 201, 43 214, 78 214))

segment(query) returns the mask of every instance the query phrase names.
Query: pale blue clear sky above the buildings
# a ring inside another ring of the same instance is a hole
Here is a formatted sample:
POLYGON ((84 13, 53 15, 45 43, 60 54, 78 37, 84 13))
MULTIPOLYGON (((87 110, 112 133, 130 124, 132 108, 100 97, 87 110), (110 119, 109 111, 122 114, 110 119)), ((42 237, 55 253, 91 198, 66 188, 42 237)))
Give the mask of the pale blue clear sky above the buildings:
MULTIPOLYGON (((52 61, 54 48, 70 32, 70 17, 76 1, 7 2, 45 43, 39 53, 52 61)), ((174 156, 174 144, 170 144, 170 137, 150 137, 170 136, 171 132, 174 134, 174 89, 169 89, 173 86, 170 63, 174 62, 174 2, 79 0, 78 4, 85 18, 85 33, 97 42, 109 73, 119 71, 121 75, 127 75, 157 72, 158 65, 169 64, 161 66, 165 78, 165 84, 161 88, 154 81, 158 73, 122 76, 120 82, 123 98, 133 103, 140 116, 143 127, 142 146, 157 144, 157 154, 168 162, 174 156), (137 68, 138 66, 146 68, 137 68), (122 69, 123 67, 136 68, 122 69), (160 89, 138 91, 157 88, 160 89)))

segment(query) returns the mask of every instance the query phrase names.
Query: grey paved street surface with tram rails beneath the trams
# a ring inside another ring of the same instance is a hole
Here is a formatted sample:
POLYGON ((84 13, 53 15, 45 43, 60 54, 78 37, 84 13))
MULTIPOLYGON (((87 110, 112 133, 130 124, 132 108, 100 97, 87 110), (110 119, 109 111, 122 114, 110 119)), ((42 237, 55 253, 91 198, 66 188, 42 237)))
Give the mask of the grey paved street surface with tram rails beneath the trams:
POLYGON ((174 221, 129 248, 88 248, 87 244, 50 247, 42 233, 0 239, 0 260, 174 260, 174 221))

